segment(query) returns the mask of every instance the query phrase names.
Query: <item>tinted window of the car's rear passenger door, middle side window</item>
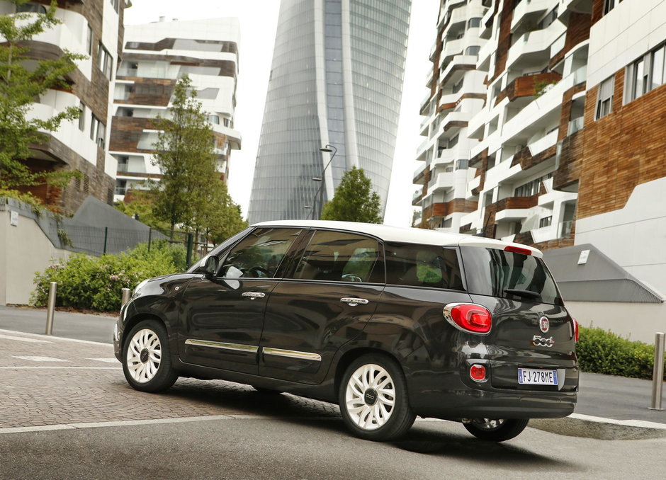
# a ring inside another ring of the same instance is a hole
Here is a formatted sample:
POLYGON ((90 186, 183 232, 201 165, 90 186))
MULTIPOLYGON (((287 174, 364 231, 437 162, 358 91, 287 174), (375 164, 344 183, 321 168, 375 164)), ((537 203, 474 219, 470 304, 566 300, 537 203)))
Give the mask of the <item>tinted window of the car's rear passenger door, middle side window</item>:
POLYGON ((317 231, 305 248, 294 278, 335 282, 383 282, 380 244, 367 236, 317 231))

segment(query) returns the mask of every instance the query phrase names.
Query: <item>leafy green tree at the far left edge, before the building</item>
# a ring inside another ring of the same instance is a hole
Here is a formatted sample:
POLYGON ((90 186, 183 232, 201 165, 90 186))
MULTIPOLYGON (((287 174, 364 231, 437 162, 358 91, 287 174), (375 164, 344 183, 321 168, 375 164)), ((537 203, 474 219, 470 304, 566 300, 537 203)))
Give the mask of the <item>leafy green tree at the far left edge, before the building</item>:
MULTIPOLYGON (((9 0, 20 7, 28 0, 9 0)), ((71 106, 51 118, 29 118, 35 98, 57 88, 71 90, 66 76, 77 59, 86 58, 64 50, 57 59, 35 61, 30 57, 32 40, 48 28, 61 23, 55 18, 57 1, 52 0, 46 13, 11 13, 0 15, 0 190, 18 193, 16 188, 46 182, 61 188, 78 172, 31 171, 26 164, 30 145, 41 144, 40 131, 55 132, 63 120, 79 118, 79 107, 71 106)))

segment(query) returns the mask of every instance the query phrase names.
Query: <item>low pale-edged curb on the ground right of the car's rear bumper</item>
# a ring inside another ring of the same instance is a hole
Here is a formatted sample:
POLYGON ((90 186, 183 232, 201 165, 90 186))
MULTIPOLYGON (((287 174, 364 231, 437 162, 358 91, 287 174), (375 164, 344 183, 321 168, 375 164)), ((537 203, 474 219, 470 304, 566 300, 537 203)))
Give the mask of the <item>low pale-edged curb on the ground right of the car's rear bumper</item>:
POLYGON ((565 418, 532 418, 529 426, 569 437, 596 440, 666 438, 666 425, 640 420, 614 420, 572 413, 565 418))

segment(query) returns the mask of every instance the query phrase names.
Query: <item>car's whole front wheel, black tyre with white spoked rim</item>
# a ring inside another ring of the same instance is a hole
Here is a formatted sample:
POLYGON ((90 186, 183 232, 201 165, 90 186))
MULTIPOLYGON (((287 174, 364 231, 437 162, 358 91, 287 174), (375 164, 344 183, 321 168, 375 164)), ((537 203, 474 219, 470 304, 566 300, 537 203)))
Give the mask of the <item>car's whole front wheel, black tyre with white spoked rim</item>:
POLYGON ((178 379, 171 366, 166 328, 157 320, 136 324, 123 344, 123 372, 132 388, 164 392, 178 379))

